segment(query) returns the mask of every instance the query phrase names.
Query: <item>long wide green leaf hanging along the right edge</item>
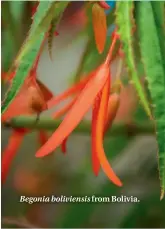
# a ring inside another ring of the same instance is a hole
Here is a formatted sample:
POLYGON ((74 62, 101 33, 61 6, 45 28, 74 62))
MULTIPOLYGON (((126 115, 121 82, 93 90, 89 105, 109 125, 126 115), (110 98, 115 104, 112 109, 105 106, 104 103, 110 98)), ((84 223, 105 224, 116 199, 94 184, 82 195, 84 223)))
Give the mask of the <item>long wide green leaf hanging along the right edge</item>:
POLYGON ((151 2, 137 4, 137 29, 142 61, 153 102, 159 145, 159 176, 162 199, 165 190, 165 72, 151 2))

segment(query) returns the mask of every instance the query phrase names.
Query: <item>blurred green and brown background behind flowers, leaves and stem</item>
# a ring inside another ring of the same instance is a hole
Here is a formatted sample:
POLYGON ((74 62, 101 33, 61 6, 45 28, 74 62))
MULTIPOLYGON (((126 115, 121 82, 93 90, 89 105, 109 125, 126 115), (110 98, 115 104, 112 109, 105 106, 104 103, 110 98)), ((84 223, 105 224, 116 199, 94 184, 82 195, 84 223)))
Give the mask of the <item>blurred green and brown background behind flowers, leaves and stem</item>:
MULTIPOLYGON (((2 69, 9 69, 30 28, 35 2, 2 1, 2 69)), ((53 41, 53 61, 47 43, 42 53, 38 78, 54 94, 62 92, 83 73, 95 69, 103 60, 106 49, 99 55, 93 38, 91 11, 83 2, 72 2, 57 28, 53 41)), ((107 15, 111 29, 114 12, 107 15)), ((115 79, 119 58, 111 66, 115 79)), ((144 73, 139 65, 139 76, 144 73)), ((123 68, 122 77, 128 76, 123 68)), ((2 80, 2 97, 7 89, 2 80)), ((148 123, 142 107, 130 85, 121 95, 121 108, 116 122, 148 123)), ((49 115, 46 112, 45 115, 49 115)), ((90 114, 86 116, 90 119, 90 114)), ((8 143, 10 130, 2 129, 2 152, 8 143)), ((89 135, 72 134, 67 143, 67 155, 61 150, 44 159, 35 158, 39 147, 36 132, 25 137, 13 161, 10 175, 2 187, 2 227, 61 227, 61 228, 163 228, 165 200, 160 202, 157 168, 157 144, 154 135, 141 133, 106 137, 105 152, 123 187, 115 187, 100 172, 95 177, 91 166, 89 135), (139 203, 19 203, 25 196, 136 196, 139 203)))

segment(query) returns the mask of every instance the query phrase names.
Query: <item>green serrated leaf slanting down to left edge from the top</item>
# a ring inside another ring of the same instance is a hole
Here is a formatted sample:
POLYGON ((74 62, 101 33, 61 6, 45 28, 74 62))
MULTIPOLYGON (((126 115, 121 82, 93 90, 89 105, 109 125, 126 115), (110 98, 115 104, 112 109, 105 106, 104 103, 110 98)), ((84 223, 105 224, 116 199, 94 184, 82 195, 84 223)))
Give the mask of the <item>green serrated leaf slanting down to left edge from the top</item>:
MULTIPOLYGON (((41 21, 43 20, 43 17, 45 15, 44 12, 49 12, 51 4, 53 4, 53 3, 40 2, 38 10, 34 16, 34 23, 33 23, 32 28, 30 30, 30 34, 29 34, 30 39, 33 39, 33 34, 35 35, 35 33, 36 33, 35 31, 38 31, 37 28, 38 28, 38 26, 40 26, 41 21), (43 14, 43 16, 42 16, 42 14, 43 14), (42 20, 41 20, 41 17, 42 17, 42 20)), ((54 12, 55 15, 59 15, 59 13, 63 12, 65 7, 67 6, 66 2, 60 2, 58 4, 59 4, 58 5, 59 8, 57 11, 54 12)), ((47 23, 48 23, 48 21, 47 21, 47 23)), ((47 26, 49 26, 49 25, 47 25, 47 26)), ((5 110, 8 108, 8 106, 10 105, 12 100, 17 95, 19 89, 23 85, 24 80, 28 76, 28 73, 29 73, 29 71, 30 71, 30 69, 31 69, 31 67, 35 61, 37 53, 40 49, 41 43, 43 42, 43 39, 45 36, 45 31, 46 31, 46 28, 43 29, 43 31, 39 33, 38 39, 36 39, 36 41, 34 43, 31 43, 30 47, 29 47, 29 41, 27 40, 25 42, 25 46, 24 46, 25 49, 23 48, 21 50, 21 53, 20 53, 21 56, 19 56, 19 58, 21 59, 21 63, 17 68, 16 75, 12 81, 12 85, 6 94, 5 100, 3 101, 3 105, 1 107, 2 113, 5 112, 5 110), (26 48, 26 45, 27 45, 28 49, 26 48), (22 52, 23 52, 23 55, 22 55, 22 52)))

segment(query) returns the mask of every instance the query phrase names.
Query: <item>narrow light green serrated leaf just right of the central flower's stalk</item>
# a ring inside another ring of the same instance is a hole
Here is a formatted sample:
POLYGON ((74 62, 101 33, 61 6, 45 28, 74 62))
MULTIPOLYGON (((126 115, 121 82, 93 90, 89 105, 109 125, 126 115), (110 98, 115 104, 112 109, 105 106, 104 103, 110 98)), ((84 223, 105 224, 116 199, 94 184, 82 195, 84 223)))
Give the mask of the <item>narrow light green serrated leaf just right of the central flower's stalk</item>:
POLYGON ((133 2, 117 2, 116 4, 116 24, 118 26, 118 33, 122 42, 123 51, 125 53, 125 61, 128 70, 131 74, 133 84, 136 88, 140 101, 150 118, 152 118, 147 97, 140 83, 138 73, 136 70, 134 52, 132 46, 132 28, 133 28, 133 2))

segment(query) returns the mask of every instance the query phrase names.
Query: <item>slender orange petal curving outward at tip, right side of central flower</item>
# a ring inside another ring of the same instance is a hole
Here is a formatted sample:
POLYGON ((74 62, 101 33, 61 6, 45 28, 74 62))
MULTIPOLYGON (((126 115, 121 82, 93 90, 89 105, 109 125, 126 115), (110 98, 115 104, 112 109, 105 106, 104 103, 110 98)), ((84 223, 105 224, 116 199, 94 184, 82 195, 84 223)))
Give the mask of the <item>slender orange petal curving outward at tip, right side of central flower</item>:
POLYGON ((104 148, 103 148, 103 128, 104 128, 104 123, 105 123, 107 96, 108 96, 108 85, 106 84, 102 92, 100 109, 98 113, 98 120, 97 120, 97 126, 96 126, 97 127, 96 128, 96 133, 97 133, 96 147, 97 147, 98 158, 100 160, 100 164, 102 166, 103 171, 114 184, 116 184, 117 186, 122 186, 120 179, 116 176, 113 169, 109 165, 109 162, 106 158, 104 148))

